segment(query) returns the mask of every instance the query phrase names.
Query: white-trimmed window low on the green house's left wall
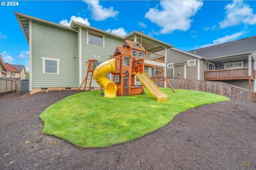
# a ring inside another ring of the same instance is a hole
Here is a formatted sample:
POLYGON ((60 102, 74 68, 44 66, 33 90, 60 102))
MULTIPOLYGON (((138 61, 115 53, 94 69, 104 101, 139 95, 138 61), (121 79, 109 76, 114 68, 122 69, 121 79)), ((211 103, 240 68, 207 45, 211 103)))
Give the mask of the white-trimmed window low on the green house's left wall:
POLYGON ((43 59, 43 74, 59 74, 60 59, 52 59, 42 57, 43 59))

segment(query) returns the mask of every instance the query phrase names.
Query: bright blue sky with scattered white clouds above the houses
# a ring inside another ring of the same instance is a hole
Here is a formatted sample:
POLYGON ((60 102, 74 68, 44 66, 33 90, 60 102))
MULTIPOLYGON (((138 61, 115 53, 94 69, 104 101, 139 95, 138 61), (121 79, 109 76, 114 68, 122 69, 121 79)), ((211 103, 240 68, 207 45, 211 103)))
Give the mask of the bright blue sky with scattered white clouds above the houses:
POLYGON ((0 6, 0 53, 4 62, 24 64, 27 70, 28 43, 14 11, 63 25, 76 20, 118 35, 144 30, 146 35, 184 51, 256 35, 256 1, 18 3, 0 6))

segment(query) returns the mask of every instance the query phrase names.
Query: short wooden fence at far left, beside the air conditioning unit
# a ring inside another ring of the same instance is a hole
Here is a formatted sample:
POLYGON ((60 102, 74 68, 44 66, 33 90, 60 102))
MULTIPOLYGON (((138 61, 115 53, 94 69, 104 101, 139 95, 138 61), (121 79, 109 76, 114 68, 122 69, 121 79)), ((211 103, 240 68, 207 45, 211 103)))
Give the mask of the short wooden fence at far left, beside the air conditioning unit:
POLYGON ((20 90, 20 80, 0 78, 0 94, 20 90))

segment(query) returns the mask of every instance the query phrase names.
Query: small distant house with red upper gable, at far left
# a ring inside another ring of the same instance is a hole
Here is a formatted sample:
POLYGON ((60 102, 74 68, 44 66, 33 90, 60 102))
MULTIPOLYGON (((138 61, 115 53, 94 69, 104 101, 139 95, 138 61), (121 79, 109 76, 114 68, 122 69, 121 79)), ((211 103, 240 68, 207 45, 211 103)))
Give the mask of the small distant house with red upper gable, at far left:
POLYGON ((6 75, 6 77, 17 80, 26 79, 26 69, 24 65, 5 63, 5 66, 10 72, 10 74, 6 75))

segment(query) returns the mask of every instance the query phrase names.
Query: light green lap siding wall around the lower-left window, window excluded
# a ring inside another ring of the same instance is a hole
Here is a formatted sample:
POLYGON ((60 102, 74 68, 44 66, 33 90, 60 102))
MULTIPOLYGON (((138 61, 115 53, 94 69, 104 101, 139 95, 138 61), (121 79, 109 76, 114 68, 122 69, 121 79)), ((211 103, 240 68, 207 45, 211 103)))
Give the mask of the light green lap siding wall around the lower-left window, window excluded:
POLYGON ((78 87, 77 34, 32 20, 32 88, 78 87), (60 59, 59 75, 42 73, 42 57, 60 59))

